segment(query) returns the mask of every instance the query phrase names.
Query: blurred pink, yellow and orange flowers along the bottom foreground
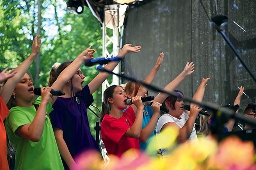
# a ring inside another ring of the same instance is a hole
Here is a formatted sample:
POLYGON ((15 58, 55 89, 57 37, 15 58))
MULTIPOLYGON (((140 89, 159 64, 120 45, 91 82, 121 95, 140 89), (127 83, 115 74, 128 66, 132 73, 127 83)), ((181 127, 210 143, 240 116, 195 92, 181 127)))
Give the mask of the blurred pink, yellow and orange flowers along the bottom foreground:
MULTIPOLYGON (((227 137, 219 144, 215 140, 199 138, 198 141, 187 141, 177 145, 178 131, 166 128, 158 135, 159 146, 147 149, 145 153, 128 150, 122 157, 110 155, 106 167, 101 166, 101 156, 98 152, 85 152, 76 159, 79 168, 76 170, 255 170, 256 156, 254 144, 242 141, 238 137, 227 137), (172 148, 168 158, 156 158, 152 153, 165 146, 172 148)), ((153 139, 152 139, 153 140, 153 139)), ((155 140, 155 139, 154 139, 155 140)))

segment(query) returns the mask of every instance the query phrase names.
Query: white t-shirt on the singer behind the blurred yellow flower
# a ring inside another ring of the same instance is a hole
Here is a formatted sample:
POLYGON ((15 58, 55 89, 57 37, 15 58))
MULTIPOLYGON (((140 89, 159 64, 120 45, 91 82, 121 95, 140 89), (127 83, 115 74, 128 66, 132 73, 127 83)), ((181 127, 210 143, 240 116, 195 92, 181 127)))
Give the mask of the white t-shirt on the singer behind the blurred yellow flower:
MULTIPOLYGON (((185 112, 183 112, 182 115, 180 115, 180 119, 177 119, 176 117, 173 117, 170 114, 162 115, 159 118, 157 125, 156 125, 156 138, 158 139, 158 135, 161 133, 160 131, 166 123, 174 122, 174 123, 176 123, 176 125, 178 125, 178 127, 182 128, 185 125, 186 121, 188 120, 188 117, 189 117, 188 114, 185 112)), ((193 127, 192 133, 188 140, 194 140, 194 139, 196 139, 198 141, 197 136, 196 136, 196 129, 193 127)), ((176 144, 168 149, 161 149, 163 157, 168 156, 169 152, 172 152, 176 147, 178 147, 178 145, 179 144, 176 144)))

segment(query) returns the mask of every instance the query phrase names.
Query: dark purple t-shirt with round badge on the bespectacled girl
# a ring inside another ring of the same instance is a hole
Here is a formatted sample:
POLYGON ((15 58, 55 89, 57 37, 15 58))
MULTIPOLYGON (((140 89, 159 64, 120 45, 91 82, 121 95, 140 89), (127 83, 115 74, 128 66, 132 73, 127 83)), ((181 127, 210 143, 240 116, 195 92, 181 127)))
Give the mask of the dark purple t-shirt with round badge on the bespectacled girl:
MULTIPOLYGON (((72 98, 58 97, 52 106, 52 127, 62 129, 64 141, 73 158, 84 150, 94 149, 100 152, 99 145, 90 132, 86 111, 92 102, 93 97, 90 95, 89 86, 86 85, 72 98)), ((67 169, 66 162, 63 159, 62 162, 67 169)))

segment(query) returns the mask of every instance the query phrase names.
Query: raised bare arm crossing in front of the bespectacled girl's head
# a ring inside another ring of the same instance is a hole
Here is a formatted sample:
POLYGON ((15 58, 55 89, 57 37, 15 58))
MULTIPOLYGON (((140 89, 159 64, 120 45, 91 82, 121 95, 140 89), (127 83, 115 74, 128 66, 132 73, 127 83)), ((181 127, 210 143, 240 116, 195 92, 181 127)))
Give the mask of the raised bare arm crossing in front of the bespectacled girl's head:
MULTIPOLYGON (((76 59, 69 65, 67 68, 65 68, 60 75, 58 76, 57 80, 52 84, 52 88, 54 90, 62 90, 64 85, 70 80, 74 74, 76 74, 76 71, 80 66, 84 63, 86 59, 92 59, 93 53, 95 52, 94 49, 91 49, 91 46, 88 47, 86 50, 84 50, 76 59)), ((54 104, 55 100, 57 99, 57 96, 54 96, 54 100, 51 100, 52 104, 54 104)))

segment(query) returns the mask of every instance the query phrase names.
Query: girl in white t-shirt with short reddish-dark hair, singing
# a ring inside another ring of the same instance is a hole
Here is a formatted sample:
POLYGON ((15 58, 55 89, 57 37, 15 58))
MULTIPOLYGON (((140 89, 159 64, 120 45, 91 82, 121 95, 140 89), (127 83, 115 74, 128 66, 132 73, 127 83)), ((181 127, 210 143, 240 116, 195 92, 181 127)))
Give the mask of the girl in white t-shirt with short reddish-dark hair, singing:
MULTIPOLYGON (((207 82, 210 78, 202 80, 193 100, 201 102, 204 97, 204 90, 207 82)), ((196 129, 194 128, 194 123, 198 113, 202 110, 195 104, 191 104, 190 111, 184 110, 184 102, 182 98, 184 94, 179 90, 174 90, 174 93, 180 96, 168 96, 162 103, 163 107, 168 108, 170 111, 160 117, 156 125, 156 135, 158 136, 166 127, 174 127, 178 131, 178 137, 176 143, 185 143, 188 140, 196 139, 196 129)), ((176 145, 175 145, 176 146, 176 145)), ((160 146, 161 147, 161 146, 160 146)), ((162 148, 162 155, 165 157, 174 148, 162 148)))

